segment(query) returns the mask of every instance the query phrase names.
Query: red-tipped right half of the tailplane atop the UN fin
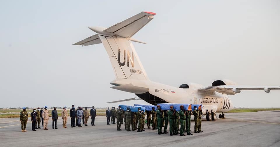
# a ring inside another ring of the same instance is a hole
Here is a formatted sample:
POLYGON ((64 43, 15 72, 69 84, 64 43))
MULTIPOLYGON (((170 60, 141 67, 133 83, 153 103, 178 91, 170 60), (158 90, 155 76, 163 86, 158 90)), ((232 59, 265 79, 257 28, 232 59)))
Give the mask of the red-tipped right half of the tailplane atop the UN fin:
POLYGON ((155 14, 156 13, 153 12, 141 12, 132 16, 131 18, 109 27, 104 31, 119 35, 121 37, 130 38, 148 22, 150 22, 155 14))

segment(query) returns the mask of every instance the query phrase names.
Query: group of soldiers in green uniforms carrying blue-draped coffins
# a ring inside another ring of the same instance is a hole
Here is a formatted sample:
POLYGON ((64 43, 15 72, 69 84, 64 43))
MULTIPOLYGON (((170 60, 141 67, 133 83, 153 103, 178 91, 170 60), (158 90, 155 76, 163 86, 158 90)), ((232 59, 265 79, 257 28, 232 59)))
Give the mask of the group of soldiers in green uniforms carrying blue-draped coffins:
MULTIPOLYGON (((113 109, 111 112, 114 111, 113 109)), ((167 126, 169 123, 169 132, 170 136, 180 134, 180 136, 185 136, 184 133, 187 135, 192 135, 190 130, 190 118, 191 115, 194 115, 195 119, 195 133, 203 132, 201 131, 201 118, 202 118, 202 110, 197 109, 194 106, 194 110, 185 110, 184 106, 180 106, 180 110, 176 111, 173 109, 173 106, 170 106, 170 110, 161 110, 160 105, 157 106, 157 111, 155 108, 152 108, 152 111, 143 111, 140 108, 138 109, 137 113, 131 112, 129 108, 126 111, 123 111, 122 108, 119 106, 118 110, 116 110, 116 117, 117 117, 117 130, 121 131, 120 129, 123 119, 125 121, 125 129, 127 131, 130 130, 130 124, 132 126, 132 131, 137 130, 137 132, 145 131, 144 124, 145 124, 145 116, 147 115, 147 127, 150 128, 150 123, 152 122, 152 129, 157 129, 158 134, 168 134, 167 126), (152 116, 152 117, 151 117, 152 116), (138 124, 138 128, 137 123, 138 124), (181 128, 179 129, 179 125, 181 128), (162 132, 162 127, 164 130, 162 132), (178 132, 180 131, 180 133, 178 132)), ((107 116, 108 118, 108 116, 107 116)), ((113 118, 113 117, 112 117, 113 118)), ((107 121, 108 122, 108 121, 107 121)))

